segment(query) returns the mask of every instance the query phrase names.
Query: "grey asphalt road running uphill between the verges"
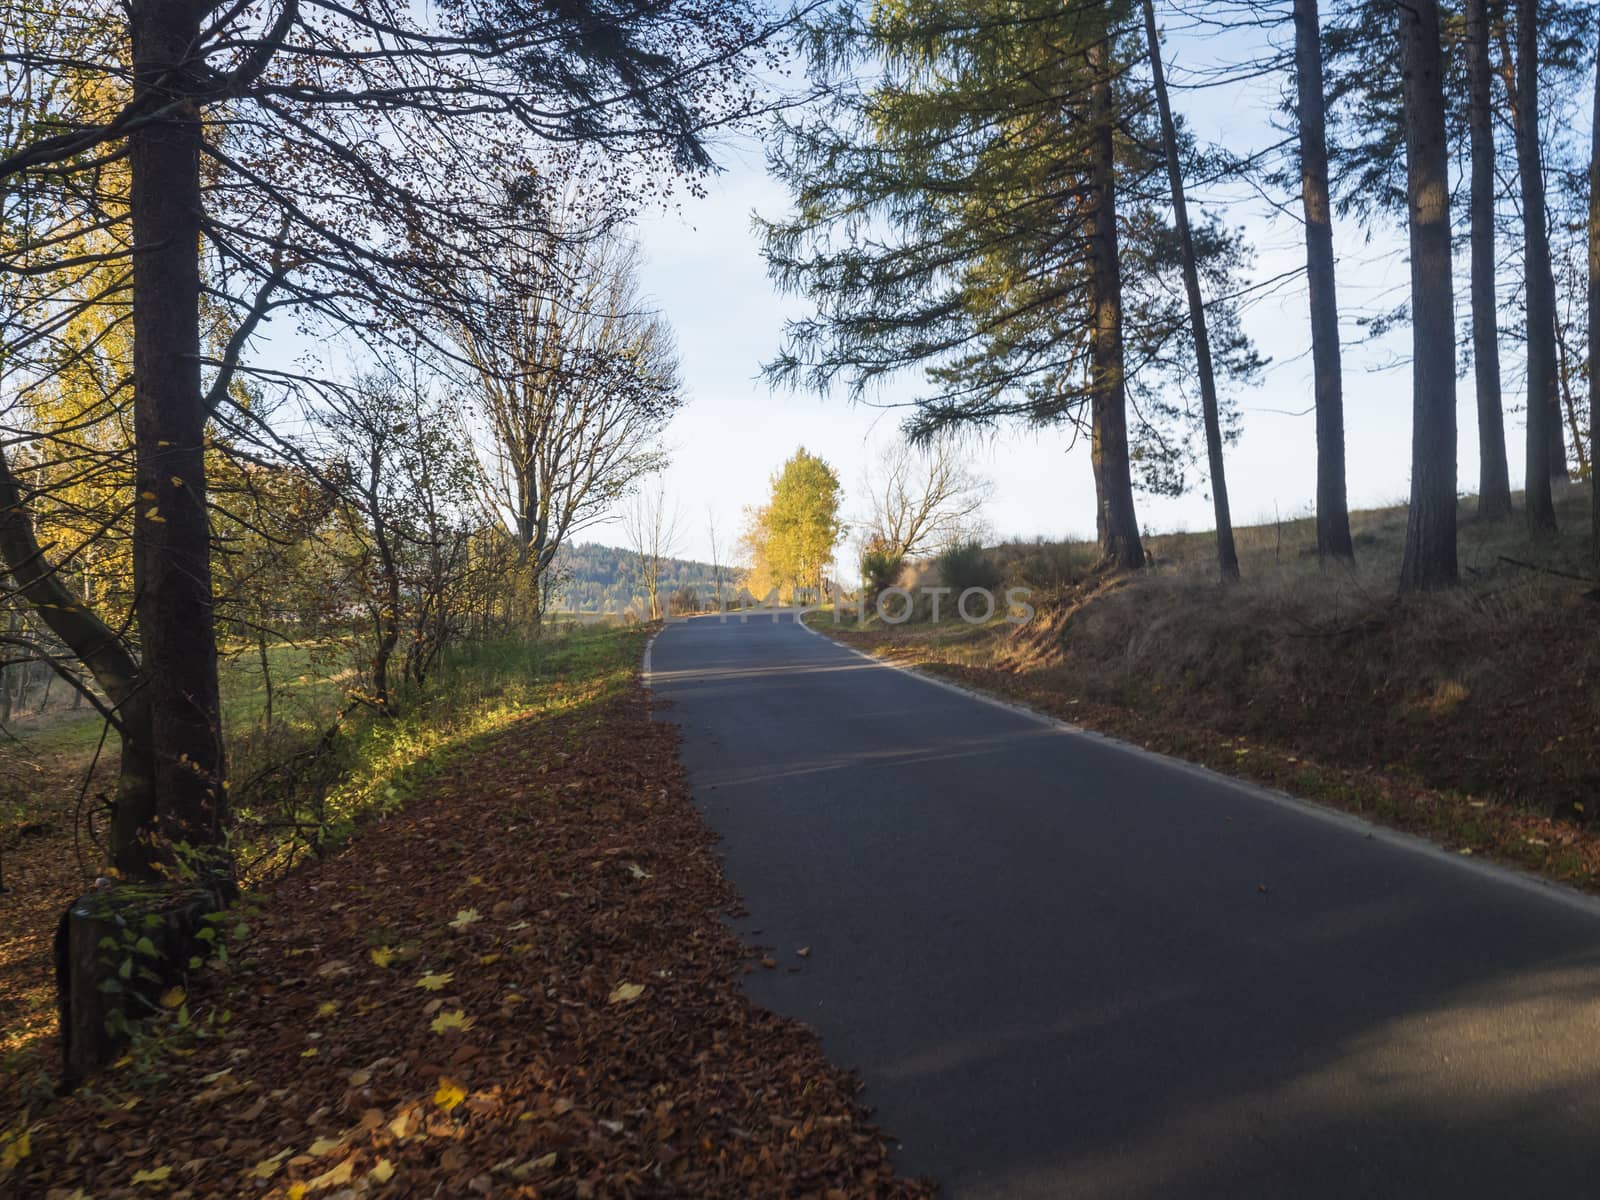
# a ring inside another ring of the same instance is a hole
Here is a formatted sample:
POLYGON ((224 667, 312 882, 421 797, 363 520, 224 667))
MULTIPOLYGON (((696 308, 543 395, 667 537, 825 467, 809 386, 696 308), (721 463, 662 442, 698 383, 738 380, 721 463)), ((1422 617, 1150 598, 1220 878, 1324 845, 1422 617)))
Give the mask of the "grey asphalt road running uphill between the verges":
POLYGON ((750 995, 944 1195, 1600 1197, 1600 906, 787 616, 651 666, 750 995))

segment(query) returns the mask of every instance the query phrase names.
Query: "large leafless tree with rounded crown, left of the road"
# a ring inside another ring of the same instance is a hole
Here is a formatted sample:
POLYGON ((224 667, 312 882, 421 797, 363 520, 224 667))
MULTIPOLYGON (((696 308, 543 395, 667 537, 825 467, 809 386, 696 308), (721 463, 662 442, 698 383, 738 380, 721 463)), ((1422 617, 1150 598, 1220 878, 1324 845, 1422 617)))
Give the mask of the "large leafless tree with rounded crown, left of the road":
POLYGON ((666 320, 643 304, 638 246, 562 227, 512 238, 483 278, 486 320, 456 336, 475 368, 474 445, 486 507, 504 520, 538 622, 562 546, 661 470, 661 434, 683 403, 666 320))

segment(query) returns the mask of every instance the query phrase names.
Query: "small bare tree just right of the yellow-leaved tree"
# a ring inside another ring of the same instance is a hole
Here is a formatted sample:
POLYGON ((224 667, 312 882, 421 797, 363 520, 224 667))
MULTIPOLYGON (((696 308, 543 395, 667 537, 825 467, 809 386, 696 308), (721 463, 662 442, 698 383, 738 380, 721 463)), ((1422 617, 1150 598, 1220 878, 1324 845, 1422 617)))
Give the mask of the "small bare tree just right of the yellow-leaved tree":
POLYGON ((973 538, 994 483, 962 458, 949 434, 923 445, 893 442, 878 456, 864 491, 870 498, 866 533, 896 560, 973 538))

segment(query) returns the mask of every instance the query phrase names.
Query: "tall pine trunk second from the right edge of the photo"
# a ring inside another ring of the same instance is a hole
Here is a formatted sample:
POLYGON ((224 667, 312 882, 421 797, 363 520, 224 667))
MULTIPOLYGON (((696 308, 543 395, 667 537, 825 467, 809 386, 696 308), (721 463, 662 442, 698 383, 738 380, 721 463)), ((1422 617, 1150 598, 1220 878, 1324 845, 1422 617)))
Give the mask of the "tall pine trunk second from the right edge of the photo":
MULTIPOLYGON (((1538 0, 1517 0, 1517 173, 1522 179, 1523 280, 1528 304, 1528 531, 1555 533, 1550 480, 1557 474, 1555 443, 1562 435, 1555 410, 1555 278, 1546 235, 1544 163, 1539 154, 1538 0), (1552 434, 1554 426, 1554 434, 1552 434)), ((1565 451, 1560 453, 1565 469, 1565 451)))

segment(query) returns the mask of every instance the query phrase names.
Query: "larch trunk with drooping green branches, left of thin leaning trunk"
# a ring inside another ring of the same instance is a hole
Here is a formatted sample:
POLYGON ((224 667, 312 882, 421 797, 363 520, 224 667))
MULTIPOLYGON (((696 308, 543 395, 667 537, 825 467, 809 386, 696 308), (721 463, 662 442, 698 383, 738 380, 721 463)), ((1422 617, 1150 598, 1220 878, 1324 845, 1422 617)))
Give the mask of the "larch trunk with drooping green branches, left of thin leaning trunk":
POLYGON ((1117 259, 1115 98, 1109 48, 1090 50, 1090 134, 1093 157, 1090 203, 1094 206, 1090 254, 1093 334, 1090 362, 1094 373, 1093 435, 1090 459, 1099 501, 1096 528, 1101 557, 1120 568, 1144 566, 1139 518, 1133 507, 1133 470, 1128 461, 1128 390, 1122 346, 1122 264, 1117 259))

